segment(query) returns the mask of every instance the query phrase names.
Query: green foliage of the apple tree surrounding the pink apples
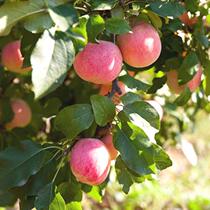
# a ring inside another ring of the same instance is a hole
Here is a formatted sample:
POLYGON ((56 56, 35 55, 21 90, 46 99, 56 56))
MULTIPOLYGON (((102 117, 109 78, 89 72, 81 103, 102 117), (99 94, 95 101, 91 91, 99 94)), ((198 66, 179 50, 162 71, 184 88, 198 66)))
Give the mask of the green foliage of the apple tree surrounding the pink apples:
POLYGON ((23 210, 81 209, 82 192, 100 201, 109 178, 97 187, 79 183, 70 171, 68 153, 79 138, 101 138, 104 130, 114 134, 120 153, 115 162, 117 180, 125 193, 133 183, 151 180, 153 174, 171 166, 165 145, 178 141, 198 109, 210 111, 210 35, 203 21, 205 16, 209 21, 210 3, 0 2, 0 48, 21 40, 23 66, 32 66, 31 72, 22 74, 0 67, 0 206, 13 205, 19 198, 23 210), (193 27, 181 23, 179 16, 185 11, 192 15, 199 11, 193 27), (72 64, 88 42, 116 43, 117 35, 129 32, 134 22, 142 20, 159 32, 163 49, 149 67, 123 64, 118 79, 130 91, 115 105, 111 99, 117 92, 117 80, 108 96, 100 96, 98 87, 81 80, 72 64), (177 69, 179 84, 184 84, 193 78, 198 64, 203 67, 203 81, 196 92, 186 89, 180 96, 161 92, 167 71, 177 69), (13 116, 11 98, 22 98, 30 105, 33 116, 27 127, 5 128, 13 116), (156 109, 145 102, 151 98, 164 101, 161 123, 156 109), (157 143, 150 141, 149 133, 154 130, 159 131, 157 143))

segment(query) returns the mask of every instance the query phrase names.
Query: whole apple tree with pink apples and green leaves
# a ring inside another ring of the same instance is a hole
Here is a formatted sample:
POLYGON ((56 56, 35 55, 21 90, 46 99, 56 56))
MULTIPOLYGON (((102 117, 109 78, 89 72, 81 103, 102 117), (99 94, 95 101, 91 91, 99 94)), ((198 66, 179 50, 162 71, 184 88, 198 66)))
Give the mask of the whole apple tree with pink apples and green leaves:
POLYGON ((82 209, 172 165, 210 112, 210 2, 0 1, 0 206, 82 209))

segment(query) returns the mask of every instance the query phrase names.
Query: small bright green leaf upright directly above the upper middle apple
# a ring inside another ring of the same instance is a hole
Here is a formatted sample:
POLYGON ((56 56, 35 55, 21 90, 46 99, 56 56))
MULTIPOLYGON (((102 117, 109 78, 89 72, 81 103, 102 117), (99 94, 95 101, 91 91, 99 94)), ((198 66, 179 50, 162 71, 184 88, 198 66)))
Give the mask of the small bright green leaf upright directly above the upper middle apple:
POLYGON ((105 29, 105 22, 100 15, 90 16, 87 22, 88 41, 95 42, 96 37, 104 29, 105 29))

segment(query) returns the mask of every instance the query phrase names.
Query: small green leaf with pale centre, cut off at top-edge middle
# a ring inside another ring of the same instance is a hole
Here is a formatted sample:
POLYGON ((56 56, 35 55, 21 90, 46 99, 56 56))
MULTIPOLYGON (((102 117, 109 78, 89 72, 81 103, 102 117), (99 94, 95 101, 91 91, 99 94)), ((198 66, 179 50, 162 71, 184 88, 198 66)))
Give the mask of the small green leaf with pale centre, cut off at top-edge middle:
POLYGON ((91 0, 90 4, 93 10, 111 10, 114 8, 117 0, 91 0))

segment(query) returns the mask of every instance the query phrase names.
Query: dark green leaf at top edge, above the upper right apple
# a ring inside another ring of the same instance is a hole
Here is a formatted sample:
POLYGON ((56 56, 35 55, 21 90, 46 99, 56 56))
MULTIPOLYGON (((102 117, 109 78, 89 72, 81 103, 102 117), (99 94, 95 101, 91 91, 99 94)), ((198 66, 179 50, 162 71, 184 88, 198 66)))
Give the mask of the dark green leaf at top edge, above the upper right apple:
POLYGON ((179 2, 156 1, 150 3, 150 8, 153 12, 162 17, 171 16, 177 18, 185 12, 184 6, 182 6, 179 2))

